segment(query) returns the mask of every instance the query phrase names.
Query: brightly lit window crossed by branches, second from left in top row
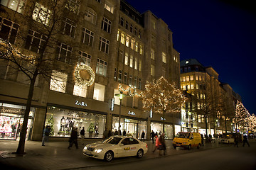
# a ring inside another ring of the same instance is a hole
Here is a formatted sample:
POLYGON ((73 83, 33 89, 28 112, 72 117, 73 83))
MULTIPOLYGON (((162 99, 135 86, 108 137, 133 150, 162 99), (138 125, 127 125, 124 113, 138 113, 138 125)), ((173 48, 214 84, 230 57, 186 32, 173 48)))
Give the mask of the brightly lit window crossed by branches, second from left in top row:
POLYGON ((36 2, 32 18, 33 20, 48 26, 50 21, 50 10, 48 10, 48 8, 36 2))

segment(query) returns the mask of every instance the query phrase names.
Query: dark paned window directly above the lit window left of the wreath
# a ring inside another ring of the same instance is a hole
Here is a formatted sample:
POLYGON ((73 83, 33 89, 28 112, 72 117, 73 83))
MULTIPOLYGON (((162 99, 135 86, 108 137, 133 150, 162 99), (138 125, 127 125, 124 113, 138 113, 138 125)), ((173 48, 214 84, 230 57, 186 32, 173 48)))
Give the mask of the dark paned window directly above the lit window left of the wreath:
POLYGON ((58 43, 57 52, 57 60, 68 64, 71 63, 72 47, 70 47, 69 45, 65 45, 63 43, 58 43))

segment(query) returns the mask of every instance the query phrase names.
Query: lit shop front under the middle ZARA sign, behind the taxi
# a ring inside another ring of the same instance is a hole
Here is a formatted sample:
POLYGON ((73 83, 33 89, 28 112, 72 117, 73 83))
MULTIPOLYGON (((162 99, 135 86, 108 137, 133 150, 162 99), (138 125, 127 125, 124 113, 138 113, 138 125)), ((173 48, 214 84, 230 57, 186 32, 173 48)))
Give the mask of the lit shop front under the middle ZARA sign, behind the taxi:
MULTIPOLYGON (((116 130, 118 131, 119 117, 112 117, 112 133, 116 130)), ((142 131, 145 132, 146 139, 146 120, 136 120, 132 118, 121 118, 120 120, 120 130, 123 134, 124 130, 127 133, 127 136, 137 137, 138 139, 142 138, 142 131)))

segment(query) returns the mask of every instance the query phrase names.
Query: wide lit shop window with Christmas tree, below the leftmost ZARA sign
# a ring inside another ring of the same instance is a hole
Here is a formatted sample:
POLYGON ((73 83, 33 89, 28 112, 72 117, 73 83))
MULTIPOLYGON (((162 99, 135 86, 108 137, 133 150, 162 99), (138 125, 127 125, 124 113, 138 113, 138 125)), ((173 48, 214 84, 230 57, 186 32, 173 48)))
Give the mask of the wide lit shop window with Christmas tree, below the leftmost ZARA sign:
POLYGON ((64 108, 48 106, 46 125, 50 125, 53 137, 70 137, 72 129, 78 132, 85 128, 85 137, 102 138, 105 130, 106 115, 90 111, 73 111, 64 108))

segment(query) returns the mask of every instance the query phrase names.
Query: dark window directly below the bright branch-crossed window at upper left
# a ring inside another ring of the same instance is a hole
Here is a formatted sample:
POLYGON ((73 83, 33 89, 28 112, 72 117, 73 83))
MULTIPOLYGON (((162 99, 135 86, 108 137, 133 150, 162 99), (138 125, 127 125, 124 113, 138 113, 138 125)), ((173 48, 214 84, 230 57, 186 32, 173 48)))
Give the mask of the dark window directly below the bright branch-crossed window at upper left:
POLYGON ((46 43, 46 35, 28 30, 25 48, 33 52, 41 53, 42 47, 46 43))

